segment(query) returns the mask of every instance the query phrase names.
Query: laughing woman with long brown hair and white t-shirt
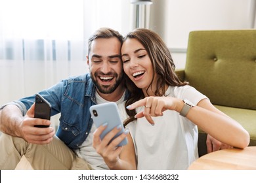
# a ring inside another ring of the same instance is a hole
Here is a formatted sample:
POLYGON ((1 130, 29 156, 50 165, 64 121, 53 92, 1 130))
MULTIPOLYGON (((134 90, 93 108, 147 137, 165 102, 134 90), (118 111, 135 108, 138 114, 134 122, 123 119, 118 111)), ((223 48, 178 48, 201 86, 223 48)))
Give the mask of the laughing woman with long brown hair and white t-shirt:
MULTIPOLYGON (((119 108, 123 118, 129 115, 128 139, 134 146, 115 148, 124 134, 110 144, 106 138, 100 142, 104 127, 99 127, 94 146, 111 169, 134 167, 134 159, 123 156, 127 152, 135 152, 137 169, 187 169, 198 158, 198 127, 225 144, 249 144, 249 133, 238 122, 179 80, 171 54, 156 33, 135 29, 125 37, 121 55, 131 96, 126 111, 119 108)), ((114 129, 108 138, 116 133, 114 129)))

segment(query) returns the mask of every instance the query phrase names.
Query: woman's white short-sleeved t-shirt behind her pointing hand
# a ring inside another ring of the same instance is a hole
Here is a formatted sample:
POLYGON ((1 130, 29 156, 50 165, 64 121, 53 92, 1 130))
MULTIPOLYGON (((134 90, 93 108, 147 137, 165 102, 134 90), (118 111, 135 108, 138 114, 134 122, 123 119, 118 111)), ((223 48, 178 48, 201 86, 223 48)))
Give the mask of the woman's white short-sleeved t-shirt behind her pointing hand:
MULTIPOLYGON (((165 95, 188 99, 195 105, 207 98, 191 86, 171 87, 165 95)), ((127 118, 125 104, 118 105, 122 120, 127 118)), ((137 112, 144 107, 137 108, 137 112)), ((165 110, 163 116, 146 118, 127 125, 135 144, 137 169, 187 169, 198 158, 198 127, 174 110, 165 110)))

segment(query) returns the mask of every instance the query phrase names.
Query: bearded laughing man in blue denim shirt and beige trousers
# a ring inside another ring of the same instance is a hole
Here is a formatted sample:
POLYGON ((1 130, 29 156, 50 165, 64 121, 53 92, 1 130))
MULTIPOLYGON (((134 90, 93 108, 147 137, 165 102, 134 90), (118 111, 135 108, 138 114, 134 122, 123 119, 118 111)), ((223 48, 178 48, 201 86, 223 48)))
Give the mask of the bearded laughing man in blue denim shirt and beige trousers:
POLYGON ((108 169, 92 146, 90 132, 95 126, 89 107, 125 99, 122 41, 117 31, 98 29, 89 39, 87 63, 91 76, 68 78, 39 92, 51 103, 51 115, 61 114, 56 135, 53 127, 34 127, 51 124, 33 118, 35 96, 1 107, 0 169, 14 169, 22 155, 34 169, 108 169))

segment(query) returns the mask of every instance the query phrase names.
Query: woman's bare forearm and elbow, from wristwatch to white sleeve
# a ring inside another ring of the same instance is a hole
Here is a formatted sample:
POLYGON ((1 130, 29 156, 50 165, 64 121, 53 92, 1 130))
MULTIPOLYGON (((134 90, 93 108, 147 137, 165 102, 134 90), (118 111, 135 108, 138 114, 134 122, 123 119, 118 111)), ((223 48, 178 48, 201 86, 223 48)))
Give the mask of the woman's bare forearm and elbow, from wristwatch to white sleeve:
POLYGON ((186 118, 215 139, 238 148, 249 144, 249 133, 238 122, 215 108, 208 99, 190 108, 186 118))

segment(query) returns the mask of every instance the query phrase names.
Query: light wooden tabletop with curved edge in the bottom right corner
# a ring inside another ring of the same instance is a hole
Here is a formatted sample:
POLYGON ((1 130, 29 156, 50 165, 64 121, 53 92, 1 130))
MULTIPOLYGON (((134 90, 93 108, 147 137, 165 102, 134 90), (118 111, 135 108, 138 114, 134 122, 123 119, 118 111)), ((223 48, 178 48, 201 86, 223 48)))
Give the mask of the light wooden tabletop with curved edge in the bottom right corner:
POLYGON ((256 170, 256 146, 218 150, 194 161, 188 170, 256 170))

